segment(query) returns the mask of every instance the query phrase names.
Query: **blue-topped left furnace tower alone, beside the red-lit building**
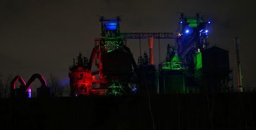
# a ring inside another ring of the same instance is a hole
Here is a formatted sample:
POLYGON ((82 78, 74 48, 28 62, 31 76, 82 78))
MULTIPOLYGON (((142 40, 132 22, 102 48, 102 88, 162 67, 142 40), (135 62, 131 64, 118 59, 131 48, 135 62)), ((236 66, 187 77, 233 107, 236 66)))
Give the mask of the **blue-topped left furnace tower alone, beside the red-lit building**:
POLYGON ((105 89, 107 94, 127 94, 131 90, 129 83, 133 82, 130 77, 133 75, 132 66, 137 70, 137 64, 129 48, 125 46, 125 37, 120 33, 119 22, 121 17, 106 18, 100 16, 101 33, 95 38, 95 47, 92 51, 88 69, 92 69, 93 62, 99 74, 98 82, 100 89, 105 89), (114 67, 114 68, 113 68, 114 67))

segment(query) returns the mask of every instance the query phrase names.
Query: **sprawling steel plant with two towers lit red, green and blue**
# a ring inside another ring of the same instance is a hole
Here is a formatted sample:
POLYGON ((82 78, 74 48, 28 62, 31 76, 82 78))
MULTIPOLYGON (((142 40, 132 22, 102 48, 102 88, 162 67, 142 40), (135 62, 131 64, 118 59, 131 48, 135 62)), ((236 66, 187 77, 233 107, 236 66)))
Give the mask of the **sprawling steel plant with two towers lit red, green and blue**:
POLYGON ((123 33, 120 16, 99 16, 99 21, 101 33, 95 38, 90 59, 79 54, 70 67, 72 96, 233 91, 228 51, 208 48, 211 23, 199 14, 188 18, 181 13, 175 33, 123 33), (166 58, 156 68, 153 40, 161 38, 175 40, 175 46, 167 46, 166 58), (149 56, 141 55, 140 44, 136 63, 126 46, 129 39, 147 39, 149 56), (94 65, 97 71, 92 72, 94 65))

